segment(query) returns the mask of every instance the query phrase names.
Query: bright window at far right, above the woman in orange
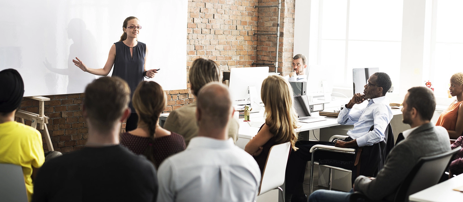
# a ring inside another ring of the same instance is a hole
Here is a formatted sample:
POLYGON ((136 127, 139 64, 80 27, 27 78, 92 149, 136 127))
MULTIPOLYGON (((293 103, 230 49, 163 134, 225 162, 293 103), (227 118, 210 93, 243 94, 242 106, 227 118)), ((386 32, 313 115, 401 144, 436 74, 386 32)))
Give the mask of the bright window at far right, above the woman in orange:
POLYGON ((429 29, 425 33, 424 64, 429 71, 424 71, 423 77, 432 82, 436 97, 446 98, 451 75, 463 71, 463 1, 426 3, 425 25, 429 29))

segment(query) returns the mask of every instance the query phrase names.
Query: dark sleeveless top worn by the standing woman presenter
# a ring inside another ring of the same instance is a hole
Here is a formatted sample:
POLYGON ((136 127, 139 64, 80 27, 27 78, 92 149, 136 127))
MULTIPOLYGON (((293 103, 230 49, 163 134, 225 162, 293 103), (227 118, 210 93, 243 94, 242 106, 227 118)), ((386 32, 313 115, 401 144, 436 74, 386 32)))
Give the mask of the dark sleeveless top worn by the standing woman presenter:
MULTIPOLYGON (((116 44, 116 59, 114 59, 112 77, 121 77, 129 84, 130 98, 132 98, 138 83, 143 81, 146 44, 138 42, 137 46, 133 47, 132 57, 130 56, 130 48, 124 42, 115 42, 114 44, 116 44)), ((132 113, 135 113, 132 101, 130 101, 129 107, 132 113)))

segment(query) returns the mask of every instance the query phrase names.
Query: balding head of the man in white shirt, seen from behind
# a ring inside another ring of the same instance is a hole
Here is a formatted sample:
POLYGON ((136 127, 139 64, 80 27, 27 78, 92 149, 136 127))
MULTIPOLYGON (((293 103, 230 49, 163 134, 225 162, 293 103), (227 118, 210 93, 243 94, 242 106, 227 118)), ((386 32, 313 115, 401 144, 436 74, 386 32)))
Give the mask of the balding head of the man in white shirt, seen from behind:
MULTIPOLYGON (((230 119, 232 101, 228 89, 219 82, 206 84, 198 92, 197 107, 201 112, 198 122, 224 128, 230 119)), ((200 123, 201 126, 201 123, 200 123)))

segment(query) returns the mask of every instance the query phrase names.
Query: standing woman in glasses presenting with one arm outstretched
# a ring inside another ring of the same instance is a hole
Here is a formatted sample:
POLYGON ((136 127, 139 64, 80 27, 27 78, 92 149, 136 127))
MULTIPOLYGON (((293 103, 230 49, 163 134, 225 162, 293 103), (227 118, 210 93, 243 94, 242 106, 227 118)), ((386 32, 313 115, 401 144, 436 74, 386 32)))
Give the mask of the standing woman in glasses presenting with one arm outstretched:
MULTIPOLYGON (((138 83, 143 81, 143 77, 152 78, 157 73, 155 69, 146 69, 146 55, 148 54, 148 48, 146 47, 146 44, 137 41, 140 29, 142 29, 142 27, 140 26, 138 18, 125 18, 124 24, 122 25, 124 33, 120 37, 120 41, 111 46, 108 60, 103 68, 88 68, 77 57, 72 60, 74 65, 81 68, 82 71, 99 76, 107 76, 114 65, 112 76, 124 79, 129 84, 131 94, 133 95, 138 83)), ((131 108, 132 113, 126 121, 125 131, 132 131, 136 129, 138 123, 138 115, 135 113, 132 102, 129 103, 129 107, 131 108)))

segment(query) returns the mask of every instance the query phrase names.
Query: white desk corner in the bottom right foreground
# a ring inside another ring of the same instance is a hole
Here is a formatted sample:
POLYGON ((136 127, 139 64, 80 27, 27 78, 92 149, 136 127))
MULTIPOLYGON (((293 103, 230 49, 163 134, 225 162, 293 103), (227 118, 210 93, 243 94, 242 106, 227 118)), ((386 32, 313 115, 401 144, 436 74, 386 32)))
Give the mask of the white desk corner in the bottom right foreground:
POLYGON ((463 174, 414 193, 408 197, 408 200, 411 202, 461 202, 463 193, 453 190, 460 186, 463 186, 463 174))

